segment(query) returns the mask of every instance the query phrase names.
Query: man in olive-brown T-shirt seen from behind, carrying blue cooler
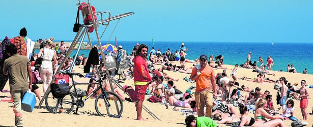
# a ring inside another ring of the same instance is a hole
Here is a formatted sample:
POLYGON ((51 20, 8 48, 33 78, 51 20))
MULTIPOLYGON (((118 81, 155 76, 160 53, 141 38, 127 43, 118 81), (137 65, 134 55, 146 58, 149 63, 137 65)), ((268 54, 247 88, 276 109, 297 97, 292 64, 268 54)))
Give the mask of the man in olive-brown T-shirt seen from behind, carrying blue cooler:
POLYGON ((21 101, 27 89, 33 89, 31 82, 33 79, 31 62, 26 56, 18 55, 16 53, 16 46, 13 44, 6 45, 6 50, 9 58, 4 62, 3 73, 9 75, 15 125, 23 126, 21 101))

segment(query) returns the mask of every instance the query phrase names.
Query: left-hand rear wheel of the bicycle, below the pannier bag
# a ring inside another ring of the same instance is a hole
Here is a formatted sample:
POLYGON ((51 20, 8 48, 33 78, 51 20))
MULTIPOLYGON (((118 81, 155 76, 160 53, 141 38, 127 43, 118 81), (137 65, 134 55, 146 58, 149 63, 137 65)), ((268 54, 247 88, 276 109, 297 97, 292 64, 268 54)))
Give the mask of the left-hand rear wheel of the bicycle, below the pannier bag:
POLYGON ((70 113, 74 108, 74 97, 72 93, 64 98, 53 98, 51 90, 47 91, 48 94, 45 98, 46 108, 51 113, 70 113))

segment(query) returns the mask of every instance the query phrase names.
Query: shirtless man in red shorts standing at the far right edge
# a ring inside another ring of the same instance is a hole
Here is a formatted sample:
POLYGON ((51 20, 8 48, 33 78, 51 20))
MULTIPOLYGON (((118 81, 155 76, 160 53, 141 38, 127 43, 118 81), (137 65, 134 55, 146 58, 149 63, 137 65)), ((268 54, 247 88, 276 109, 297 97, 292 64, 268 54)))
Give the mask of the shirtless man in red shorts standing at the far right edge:
POLYGON ((302 117, 304 120, 304 121, 302 121, 302 124, 307 125, 308 123, 306 122, 307 121, 306 108, 308 106, 307 97, 309 96, 309 93, 308 93, 307 88, 305 87, 305 83, 306 83, 305 80, 301 80, 301 86, 302 87, 300 88, 299 99, 300 99, 300 109, 301 109, 302 117))

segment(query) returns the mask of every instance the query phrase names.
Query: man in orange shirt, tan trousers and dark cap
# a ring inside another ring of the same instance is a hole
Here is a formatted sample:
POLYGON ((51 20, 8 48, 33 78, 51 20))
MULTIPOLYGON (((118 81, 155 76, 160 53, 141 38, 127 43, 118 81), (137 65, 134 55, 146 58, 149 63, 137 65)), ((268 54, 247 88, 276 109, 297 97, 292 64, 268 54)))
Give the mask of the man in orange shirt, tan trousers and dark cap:
POLYGON ((193 67, 190 79, 196 80, 196 89, 194 95, 198 116, 204 116, 204 107, 206 106, 206 116, 210 117, 213 107, 212 97, 217 97, 215 74, 213 68, 207 65, 207 55, 203 54, 199 57, 199 59, 200 67, 193 67))

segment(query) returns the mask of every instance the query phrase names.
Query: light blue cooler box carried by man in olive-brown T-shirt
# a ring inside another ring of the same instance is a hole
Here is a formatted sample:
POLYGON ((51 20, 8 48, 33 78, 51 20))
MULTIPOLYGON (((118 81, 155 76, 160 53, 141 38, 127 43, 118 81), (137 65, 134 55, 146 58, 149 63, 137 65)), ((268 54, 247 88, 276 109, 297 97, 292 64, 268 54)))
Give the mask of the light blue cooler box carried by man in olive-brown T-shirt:
POLYGON ((35 93, 27 91, 22 100, 22 109, 26 112, 33 112, 36 104, 35 93))

